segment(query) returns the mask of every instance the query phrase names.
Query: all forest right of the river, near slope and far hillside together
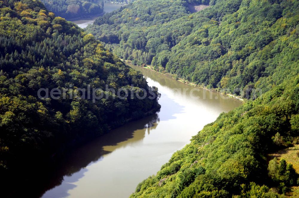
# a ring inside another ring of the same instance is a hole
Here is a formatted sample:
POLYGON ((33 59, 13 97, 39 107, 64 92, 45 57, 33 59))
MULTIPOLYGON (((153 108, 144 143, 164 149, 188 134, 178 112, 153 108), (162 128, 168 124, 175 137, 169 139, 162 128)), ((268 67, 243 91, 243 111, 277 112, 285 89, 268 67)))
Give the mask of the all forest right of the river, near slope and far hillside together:
POLYGON ((205 126, 131 197, 283 197, 298 174, 267 155, 299 143, 299 1, 216 0, 192 14, 186 4, 135 1, 88 31, 135 64, 250 100, 205 126))

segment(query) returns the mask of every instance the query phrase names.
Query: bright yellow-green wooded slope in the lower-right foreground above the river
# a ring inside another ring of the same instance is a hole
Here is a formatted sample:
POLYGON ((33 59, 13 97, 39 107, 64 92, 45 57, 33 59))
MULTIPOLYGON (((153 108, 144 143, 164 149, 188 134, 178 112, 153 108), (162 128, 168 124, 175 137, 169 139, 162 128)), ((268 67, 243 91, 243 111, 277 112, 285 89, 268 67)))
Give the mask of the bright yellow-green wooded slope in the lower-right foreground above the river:
POLYGON ((294 86, 299 86, 298 79, 298 75, 291 74, 256 100, 221 114, 194 136, 189 145, 174 153, 161 171, 148 178, 131 197, 232 197, 238 194, 278 197, 270 187, 279 189, 279 193, 288 191, 298 178, 292 165, 275 159, 269 162, 267 170, 261 156, 280 148, 272 140, 277 131, 283 138, 298 136, 292 135, 292 123, 285 119, 286 115, 297 113, 294 109, 297 101, 289 95, 296 89, 294 86), (270 96, 274 97, 269 100, 270 96), (173 173, 169 170, 175 164, 180 164, 180 169, 173 173), (203 167, 205 172, 196 176, 196 167, 203 167), (264 174, 268 171, 269 177, 264 174), (161 178, 167 179, 159 186, 161 178))

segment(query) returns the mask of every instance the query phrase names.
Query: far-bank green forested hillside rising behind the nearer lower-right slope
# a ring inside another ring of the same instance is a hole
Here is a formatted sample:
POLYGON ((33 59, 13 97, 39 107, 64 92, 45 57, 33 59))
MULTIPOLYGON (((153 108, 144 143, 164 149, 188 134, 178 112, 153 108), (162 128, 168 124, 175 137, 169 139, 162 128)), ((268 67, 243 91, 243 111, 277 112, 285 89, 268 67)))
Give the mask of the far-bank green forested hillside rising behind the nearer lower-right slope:
MULTIPOLYGON (((200 86, 241 95, 273 74, 275 66, 256 54, 293 31, 299 20, 298 1, 218 0, 192 14, 186 4, 135 1, 100 17, 87 31, 134 64, 152 64, 200 86)), ((269 90, 267 85, 258 88, 269 90)))

